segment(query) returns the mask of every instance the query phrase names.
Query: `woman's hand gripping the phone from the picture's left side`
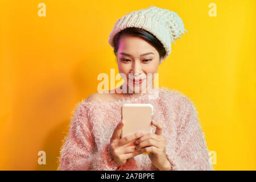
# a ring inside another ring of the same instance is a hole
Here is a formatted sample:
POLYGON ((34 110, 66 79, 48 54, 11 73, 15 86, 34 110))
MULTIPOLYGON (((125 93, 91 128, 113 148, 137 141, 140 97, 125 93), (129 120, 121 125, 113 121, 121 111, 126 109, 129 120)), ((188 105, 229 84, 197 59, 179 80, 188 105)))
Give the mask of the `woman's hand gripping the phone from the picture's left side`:
POLYGON ((110 139, 110 153, 113 156, 115 163, 119 166, 126 163, 127 159, 133 156, 142 154, 141 151, 137 151, 134 146, 124 146, 125 144, 142 137, 143 133, 134 133, 127 135, 120 139, 119 134, 123 127, 123 121, 119 122, 117 127, 115 127, 112 138, 110 139))

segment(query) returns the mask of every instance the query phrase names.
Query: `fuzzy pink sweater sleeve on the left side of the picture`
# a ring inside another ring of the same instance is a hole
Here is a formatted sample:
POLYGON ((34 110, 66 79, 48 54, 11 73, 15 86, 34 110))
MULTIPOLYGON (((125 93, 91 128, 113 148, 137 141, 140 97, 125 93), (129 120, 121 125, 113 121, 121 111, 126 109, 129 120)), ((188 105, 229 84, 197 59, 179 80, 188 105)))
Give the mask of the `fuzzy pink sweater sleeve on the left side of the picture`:
POLYGON ((89 106, 86 104, 88 102, 82 101, 73 111, 69 133, 61 146, 58 170, 118 170, 118 164, 110 154, 110 143, 104 143, 98 149, 95 146, 89 122, 89 106))

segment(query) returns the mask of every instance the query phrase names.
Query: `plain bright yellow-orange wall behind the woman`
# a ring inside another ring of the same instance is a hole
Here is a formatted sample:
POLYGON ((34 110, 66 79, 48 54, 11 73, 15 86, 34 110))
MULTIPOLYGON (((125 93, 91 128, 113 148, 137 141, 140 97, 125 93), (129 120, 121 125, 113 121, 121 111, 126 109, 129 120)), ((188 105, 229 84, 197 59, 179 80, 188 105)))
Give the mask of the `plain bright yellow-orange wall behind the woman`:
POLYGON ((256 1, 2 0, 1 170, 57 168, 71 111, 97 92, 98 74, 118 74, 108 44, 114 23, 151 5, 175 11, 188 31, 160 65, 159 86, 195 102, 215 170, 256 169, 256 1), (208 15, 212 2, 216 17, 208 15))

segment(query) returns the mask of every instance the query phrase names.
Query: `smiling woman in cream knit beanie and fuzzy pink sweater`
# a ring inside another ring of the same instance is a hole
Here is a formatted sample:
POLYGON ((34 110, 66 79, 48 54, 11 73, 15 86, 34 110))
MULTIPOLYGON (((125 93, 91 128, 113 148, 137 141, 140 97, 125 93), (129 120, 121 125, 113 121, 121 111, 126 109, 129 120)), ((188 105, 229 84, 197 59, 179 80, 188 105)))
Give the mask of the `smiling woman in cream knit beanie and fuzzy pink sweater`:
POLYGON ((77 105, 61 147, 59 170, 213 169, 195 106, 178 91, 150 84, 170 55, 171 43, 184 31, 176 13, 155 6, 118 19, 109 44, 125 82, 110 93, 94 93, 77 105), (124 103, 152 104, 155 131, 119 138, 124 103), (135 146, 125 146, 131 141, 135 146))

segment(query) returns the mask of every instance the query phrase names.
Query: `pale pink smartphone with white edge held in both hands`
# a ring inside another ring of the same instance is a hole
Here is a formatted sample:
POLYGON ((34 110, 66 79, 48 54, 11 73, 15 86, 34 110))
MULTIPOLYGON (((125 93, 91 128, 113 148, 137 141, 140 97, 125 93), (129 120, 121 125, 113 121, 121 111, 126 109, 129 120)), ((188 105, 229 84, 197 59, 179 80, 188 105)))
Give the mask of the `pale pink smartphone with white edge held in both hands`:
MULTIPOLYGON (((124 125, 121 131, 121 138, 141 131, 152 133, 151 121, 153 113, 154 107, 151 104, 123 104, 121 114, 124 125)), ((135 145, 135 140, 128 143, 127 146, 135 145)), ((143 152, 142 154, 149 153, 143 152)))

